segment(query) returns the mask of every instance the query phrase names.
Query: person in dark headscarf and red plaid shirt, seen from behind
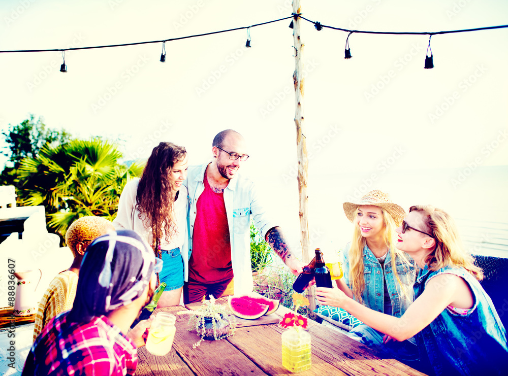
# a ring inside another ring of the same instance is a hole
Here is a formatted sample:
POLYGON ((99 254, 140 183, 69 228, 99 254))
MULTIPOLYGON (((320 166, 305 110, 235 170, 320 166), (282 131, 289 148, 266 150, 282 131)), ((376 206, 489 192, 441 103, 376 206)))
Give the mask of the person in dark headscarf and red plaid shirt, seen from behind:
POLYGON ((150 301, 161 267, 134 231, 98 237, 83 257, 72 310, 46 325, 22 375, 133 375, 150 321, 129 328, 150 301))

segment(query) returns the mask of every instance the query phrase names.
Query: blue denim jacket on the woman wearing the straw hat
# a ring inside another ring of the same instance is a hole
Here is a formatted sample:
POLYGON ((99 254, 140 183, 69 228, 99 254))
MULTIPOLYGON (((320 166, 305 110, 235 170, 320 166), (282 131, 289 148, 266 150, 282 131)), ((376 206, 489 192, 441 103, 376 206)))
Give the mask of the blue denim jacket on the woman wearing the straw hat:
MULTIPOLYGON (((340 254, 342 270, 344 272, 344 282, 351 288, 350 284, 350 264, 349 264, 349 251, 351 243, 348 243, 340 254)), ((388 292, 392 301, 392 315, 401 317, 407 310, 407 307, 413 301, 412 284, 415 282, 416 269, 414 261, 408 257, 409 265, 397 257, 395 260, 395 267, 399 275, 400 282, 404 285, 406 294, 402 289, 392 272, 392 255, 388 252, 385 260, 385 278, 387 282, 388 292)), ((363 290, 362 299, 363 304, 371 310, 383 312, 384 311, 384 298, 385 298, 385 285, 383 278, 383 269, 381 264, 377 261, 376 257, 365 246, 363 248, 363 276, 365 278, 365 289, 363 290)), ((355 297, 355 300, 358 300, 355 297)))

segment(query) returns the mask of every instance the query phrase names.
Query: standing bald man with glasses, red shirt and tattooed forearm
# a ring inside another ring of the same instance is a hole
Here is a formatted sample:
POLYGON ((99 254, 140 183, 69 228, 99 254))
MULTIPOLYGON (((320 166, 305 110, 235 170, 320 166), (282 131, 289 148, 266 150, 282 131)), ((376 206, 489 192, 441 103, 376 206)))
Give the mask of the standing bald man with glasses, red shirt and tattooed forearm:
POLYGON ((250 219, 293 274, 300 274, 305 265, 267 217, 254 184, 238 174, 249 158, 242 135, 232 129, 219 132, 212 155, 209 163, 189 166, 185 182, 190 207, 186 304, 208 295, 218 298, 252 291, 250 219))

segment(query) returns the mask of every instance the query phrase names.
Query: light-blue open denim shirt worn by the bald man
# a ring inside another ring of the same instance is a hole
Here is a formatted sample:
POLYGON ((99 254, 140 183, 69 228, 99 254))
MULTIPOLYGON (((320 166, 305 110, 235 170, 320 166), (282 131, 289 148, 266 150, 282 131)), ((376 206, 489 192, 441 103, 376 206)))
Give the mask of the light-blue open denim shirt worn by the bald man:
MULTIPOLYGON (((207 166, 208 163, 189 166, 187 179, 184 181, 184 185, 188 188, 190 209, 187 216, 188 242, 186 245, 188 247, 182 251, 182 255, 188 255, 188 258, 190 258, 193 247, 196 203, 205 189, 203 179, 207 166)), ((254 183, 240 174, 231 179, 224 190, 224 203, 231 242, 234 291, 235 294, 247 294, 253 289, 250 262, 250 219, 253 219, 254 225, 263 238, 268 230, 276 227, 277 224, 269 220, 269 215, 261 204, 254 183)), ((187 270, 185 271, 185 281, 187 281, 188 273, 187 270)))

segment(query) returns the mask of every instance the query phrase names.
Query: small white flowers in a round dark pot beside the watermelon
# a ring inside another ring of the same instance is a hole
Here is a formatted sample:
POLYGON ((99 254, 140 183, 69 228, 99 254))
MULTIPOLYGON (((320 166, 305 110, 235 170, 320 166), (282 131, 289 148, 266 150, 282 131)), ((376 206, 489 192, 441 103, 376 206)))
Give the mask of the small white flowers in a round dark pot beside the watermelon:
POLYGON ((235 328, 231 322, 235 322, 227 305, 216 304, 215 298, 210 295, 209 300, 204 300, 195 310, 180 311, 178 315, 189 315, 189 331, 196 330, 201 338, 193 349, 201 344, 203 339, 219 340, 234 334, 235 328), (231 333, 230 328, 232 327, 231 333))

